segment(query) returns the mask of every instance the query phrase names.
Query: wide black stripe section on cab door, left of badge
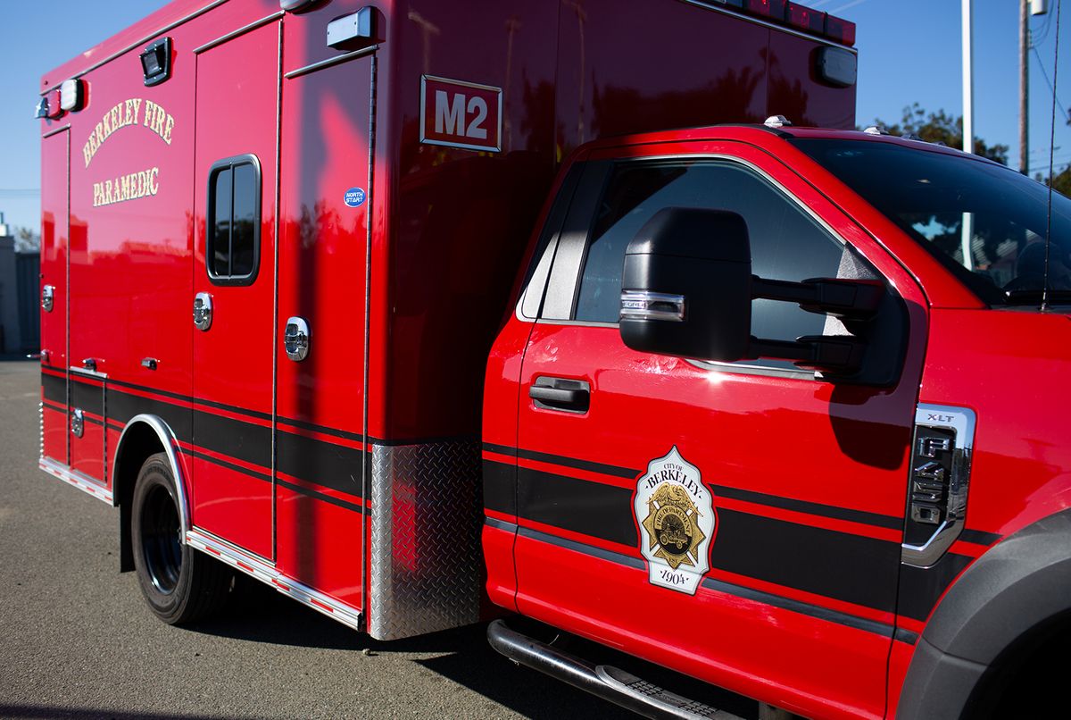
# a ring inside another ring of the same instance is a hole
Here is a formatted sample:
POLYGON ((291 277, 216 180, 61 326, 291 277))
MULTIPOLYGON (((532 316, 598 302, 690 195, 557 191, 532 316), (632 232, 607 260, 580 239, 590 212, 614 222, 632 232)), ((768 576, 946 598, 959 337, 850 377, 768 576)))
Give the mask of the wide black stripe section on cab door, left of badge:
POLYGON ((632 491, 517 468, 517 514, 574 532, 636 545, 632 491))

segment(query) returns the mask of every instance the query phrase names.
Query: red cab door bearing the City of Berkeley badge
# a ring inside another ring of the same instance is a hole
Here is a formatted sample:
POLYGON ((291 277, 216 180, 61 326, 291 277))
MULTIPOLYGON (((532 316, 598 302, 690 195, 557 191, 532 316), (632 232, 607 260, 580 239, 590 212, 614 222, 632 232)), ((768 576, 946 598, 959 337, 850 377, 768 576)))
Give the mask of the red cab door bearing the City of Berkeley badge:
MULTIPOLYGON (((880 268, 917 288, 872 242, 870 262, 850 250, 862 234, 771 155, 696 151, 589 163, 548 251, 521 374, 517 608, 805 715, 825 698, 824 714, 877 717, 919 378, 906 305, 893 301, 881 351, 906 370, 885 387, 637 352, 616 324, 624 249, 667 207, 743 215, 763 278, 880 268)), ((756 301, 752 333, 794 340, 827 322, 756 301)))

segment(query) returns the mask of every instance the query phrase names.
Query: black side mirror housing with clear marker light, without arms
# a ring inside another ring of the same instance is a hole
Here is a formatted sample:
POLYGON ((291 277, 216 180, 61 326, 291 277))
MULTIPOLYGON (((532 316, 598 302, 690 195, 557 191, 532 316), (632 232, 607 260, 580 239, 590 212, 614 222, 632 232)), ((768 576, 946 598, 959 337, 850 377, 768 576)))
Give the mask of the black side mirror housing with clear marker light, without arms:
POLYGON ((621 340, 644 352, 730 362, 748 356, 751 242, 735 212, 666 208, 624 253, 621 340))

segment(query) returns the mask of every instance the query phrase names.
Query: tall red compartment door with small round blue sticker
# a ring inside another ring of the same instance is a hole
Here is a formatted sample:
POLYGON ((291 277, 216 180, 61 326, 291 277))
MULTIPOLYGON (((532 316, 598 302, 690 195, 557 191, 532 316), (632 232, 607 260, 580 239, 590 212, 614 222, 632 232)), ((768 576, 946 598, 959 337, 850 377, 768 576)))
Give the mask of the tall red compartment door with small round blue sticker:
POLYGON ((355 608, 362 606, 365 537, 372 72, 365 56, 286 78, 282 119, 276 561, 288 576, 355 608))

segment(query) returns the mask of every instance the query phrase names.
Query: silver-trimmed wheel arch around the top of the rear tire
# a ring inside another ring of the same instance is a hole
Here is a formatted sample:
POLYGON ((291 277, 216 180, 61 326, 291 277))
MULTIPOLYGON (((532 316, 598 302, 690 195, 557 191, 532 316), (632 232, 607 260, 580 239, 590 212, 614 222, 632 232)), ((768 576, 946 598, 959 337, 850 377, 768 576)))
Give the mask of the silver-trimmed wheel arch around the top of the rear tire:
POLYGON ((130 419, 119 436, 116 446, 115 462, 111 464, 112 505, 119 508, 120 552, 119 570, 134 570, 134 551, 131 541, 130 518, 131 499, 134 496, 134 483, 137 480, 141 465, 157 452, 167 455, 171 474, 175 477, 175 488, 179 506, 179 522, 182 527, 181 541, 185 543, 185 534, 190 530, 190 505, 186 494, 185 474, 178 452, 178 440, 175 433, 160 416, 136 415, 130 419))

